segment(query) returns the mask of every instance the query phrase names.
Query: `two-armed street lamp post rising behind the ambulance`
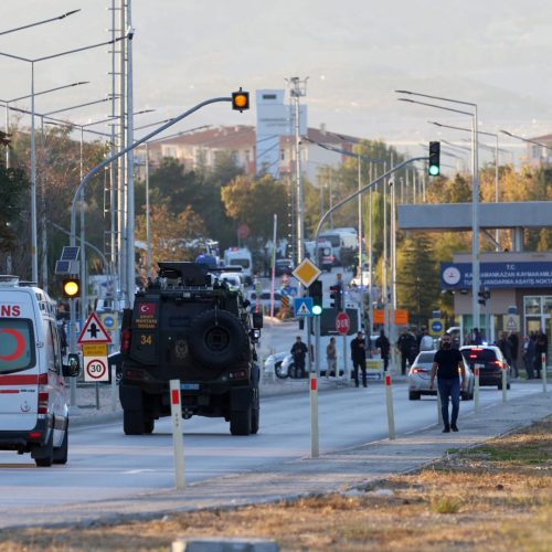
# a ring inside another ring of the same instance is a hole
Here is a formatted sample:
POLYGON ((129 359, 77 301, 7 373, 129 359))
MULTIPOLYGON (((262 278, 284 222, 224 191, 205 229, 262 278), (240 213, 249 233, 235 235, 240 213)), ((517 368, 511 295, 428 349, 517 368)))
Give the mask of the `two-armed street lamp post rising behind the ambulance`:
POLYGON ((32 282, 39 283, 39 259, 38 259, 38 243, 36 243, 36 145, 35 145, 35 106, 34 106, 34 65, 39 62, 53 60, 56 57, 62 57, 64 55, 83 52, 85 50, 92 50, 99 46, 105 46, 108 44, 114 44, 119 40, 124 40, 126 36, 119 36, 117 39, 102 42, 98 44, 92 44, 89 46, 77 47, 74 50, 67 50, 60 52, 57 54, 43 55, 41 57, 23 57, 21 55, 9 54, 6 52, 0 52, 3 57, 9 57, 11 60, 18 60, 31 64, 31 279, 32 282))

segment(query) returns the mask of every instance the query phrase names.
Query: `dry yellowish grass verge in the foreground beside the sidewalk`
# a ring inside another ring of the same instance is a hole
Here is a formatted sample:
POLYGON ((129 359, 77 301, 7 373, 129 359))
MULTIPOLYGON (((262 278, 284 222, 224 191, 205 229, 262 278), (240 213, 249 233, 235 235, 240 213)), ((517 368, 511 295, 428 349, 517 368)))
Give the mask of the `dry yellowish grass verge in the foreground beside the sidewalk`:
POLYGON ((552 417, 361 492, 92 528, 0 531, 0 550, 170 550, 255 537, 282 550, 552 550, 552 417))

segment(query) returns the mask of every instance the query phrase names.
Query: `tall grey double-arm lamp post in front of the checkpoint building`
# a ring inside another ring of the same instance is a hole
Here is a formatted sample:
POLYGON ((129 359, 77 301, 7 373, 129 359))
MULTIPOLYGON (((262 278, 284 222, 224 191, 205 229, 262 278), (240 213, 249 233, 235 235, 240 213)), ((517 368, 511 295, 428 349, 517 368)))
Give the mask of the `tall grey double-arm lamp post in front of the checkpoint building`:
POLYGON ((442 96, 432 96, 429 94, 420 94, 411 91, 395 91, 399 94, 407 94, 411 96, 425 97, 431 99, 437 99, 440 102, 449 102, 453 104, 466 105, 473 108, 473 112, 464 112, 460 109, 454 109, 452 107, 445 107, 436 104, 428 104, 425 102, 418 102, 417 99, 411 98, 399 98, 401 102, 410 102, 411 104, 424 105, 427 107, 434 107, 436 109, 444 109, 445 112, 459 113, 461 115, 468 115, 471 117, 471 164, 473 164, 473 187, 471 187, 471 315, 473 315, 473 327, 478 328, 480 326, 480 309, 479 309, 479 285, 480 285, 480 274, 479 274, 479 161, 478 161, 478 138, 477 138, 477 104, 471 102, 463 102, 459 99, 446 98, 442 96))

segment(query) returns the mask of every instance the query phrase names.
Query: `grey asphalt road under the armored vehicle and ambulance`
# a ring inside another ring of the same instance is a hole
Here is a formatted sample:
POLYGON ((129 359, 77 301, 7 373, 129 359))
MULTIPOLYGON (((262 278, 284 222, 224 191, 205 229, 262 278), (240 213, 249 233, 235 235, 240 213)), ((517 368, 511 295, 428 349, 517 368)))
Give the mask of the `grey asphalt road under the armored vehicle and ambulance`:
MULTIPOLYGON (((342 454, 370 443, 385 442, 388 418, 384 388, 325 389, 319 393, 320 456, 342 454)), ((305 381, 288 381, 284 394, 264 396, 258 435, 231 436, 229 424, 219 418, 194 417, 184 422, 187 484, 213 485, 264 471, 289 469, 310 458, 310 407, 305 381), (287 388, 287 389, 286 389, 287 388)), ((513 385, 509 401, 527 399, 539 392, 539 383, 513 385)), ((395 427, 407 437, 437 428, 435 399, 407 400, 405 383, 394 386, 395 427)), ((481 391, 481 428, 487 414, 502 406, 501 393, 481 391)), ((473 420, 473 402, 460 405, 459 426, 473 420)), ((66 466, 36 468, 29 455, 0 453, 0 527, 24 520, 47 522, 62 511, 97 511, 98 505, 171 491, 174 466, 170 418, 156 424, 152 435, 125 436, 120 421, 73 427, 70 461, 66 466), (79 505, 76 508, 75 505, 79 505), (60 510, 61 508, 61 510, 60 510), (76 510, 75 510, 76 508, 76 510), (32 520, 28 519, 33 512, 32 520)), ((245 489, 244 489, 245 491, 245 489)))

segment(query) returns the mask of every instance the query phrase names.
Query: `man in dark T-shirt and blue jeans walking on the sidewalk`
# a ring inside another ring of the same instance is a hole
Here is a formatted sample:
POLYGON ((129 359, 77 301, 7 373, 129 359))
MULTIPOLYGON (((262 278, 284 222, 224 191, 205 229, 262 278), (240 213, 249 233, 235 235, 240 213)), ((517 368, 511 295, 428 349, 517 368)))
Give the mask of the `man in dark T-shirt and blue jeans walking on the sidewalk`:
POLYGON ((440 397, 440 412, 443 414, 443 433, 458 431, 458 412, 460 410, 460 386, 466 384, 466 370, 464 359, 458 349, 453 349, 453 339, 445 333, 440 340, 440 349, 433 359, 429 389, 434 388, 437 376, 437 390, 440 397), (460 381, 461 380, 461 381, 460 381), (453 404, 453 412, 448 415, 448 399, 453 404))

